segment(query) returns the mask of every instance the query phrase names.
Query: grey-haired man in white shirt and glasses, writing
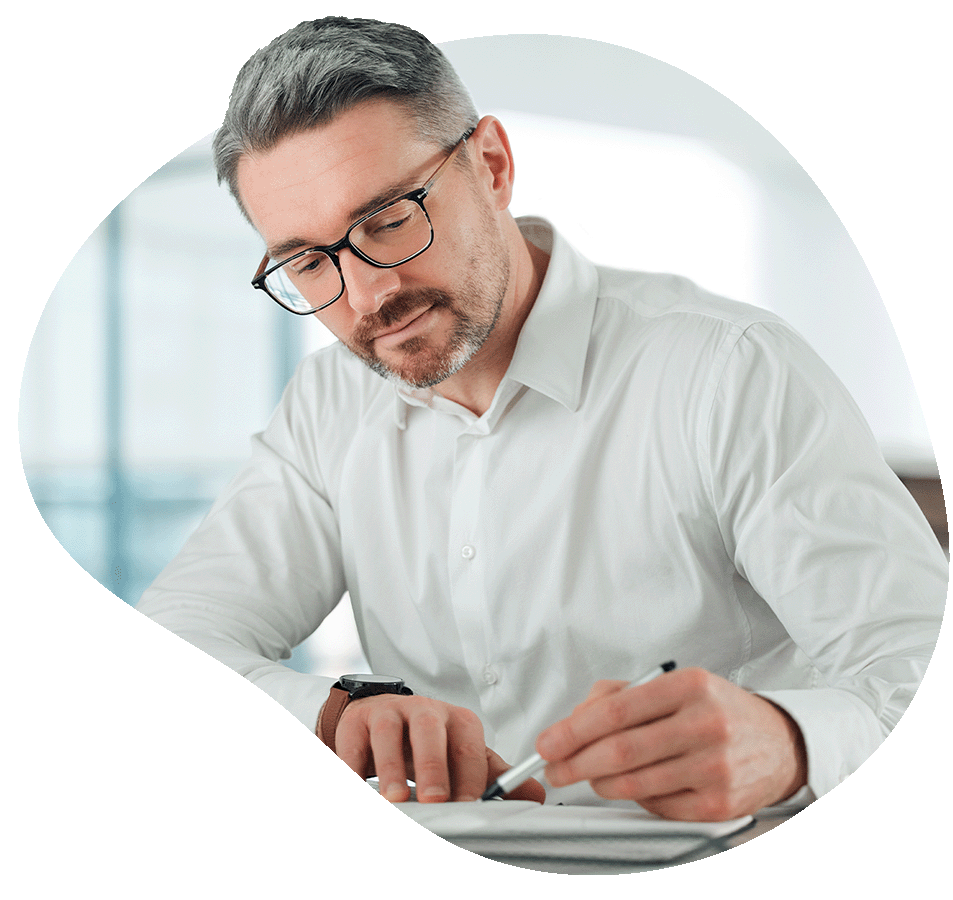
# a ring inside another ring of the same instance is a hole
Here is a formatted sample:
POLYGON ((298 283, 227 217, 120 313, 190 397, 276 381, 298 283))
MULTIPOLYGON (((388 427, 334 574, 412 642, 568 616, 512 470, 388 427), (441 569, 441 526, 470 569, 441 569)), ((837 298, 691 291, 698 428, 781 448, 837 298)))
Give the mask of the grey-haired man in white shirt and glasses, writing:
POLYGON ((946 560, 783 322, 514 221, 502 124, 400 26, 276 39, 215 152, 265 243, 255 286, 339 343, 143 612, 392 800, 408 778, 475 799, 535 749, 549 801, 723 819, 869 756, 929 660, 946 560), (346 591, 413 694, 277 663, 346 591))

